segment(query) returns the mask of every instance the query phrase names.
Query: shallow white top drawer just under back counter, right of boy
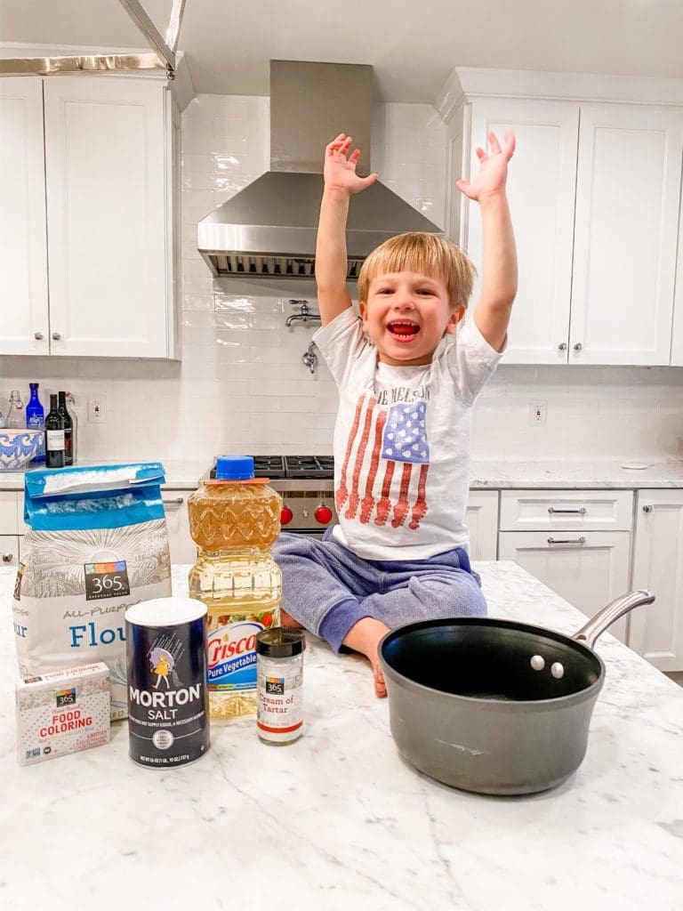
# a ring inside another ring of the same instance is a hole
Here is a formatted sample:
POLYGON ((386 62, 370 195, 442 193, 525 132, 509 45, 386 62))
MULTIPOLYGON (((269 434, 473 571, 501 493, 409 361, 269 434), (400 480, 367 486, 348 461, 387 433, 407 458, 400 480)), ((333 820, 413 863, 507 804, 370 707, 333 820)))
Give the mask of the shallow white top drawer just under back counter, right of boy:
POLYGON ((632 490, 503 490, 501 531, 630 531, 632 490))

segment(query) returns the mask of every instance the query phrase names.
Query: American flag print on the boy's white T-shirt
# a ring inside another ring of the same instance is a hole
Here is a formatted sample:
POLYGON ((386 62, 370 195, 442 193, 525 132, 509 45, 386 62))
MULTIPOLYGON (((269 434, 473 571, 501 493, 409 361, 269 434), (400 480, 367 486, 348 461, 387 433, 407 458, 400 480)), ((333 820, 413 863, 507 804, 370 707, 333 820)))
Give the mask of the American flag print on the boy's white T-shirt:
POLYGON ((408 527, 420 527, 427 512, 426 412, 423 401, 382 407, 372 394, 359 397, 334 495, 340 515, 346 507, 345 518, 378 526, 391 516, 393 528, 410 516, 408 527))

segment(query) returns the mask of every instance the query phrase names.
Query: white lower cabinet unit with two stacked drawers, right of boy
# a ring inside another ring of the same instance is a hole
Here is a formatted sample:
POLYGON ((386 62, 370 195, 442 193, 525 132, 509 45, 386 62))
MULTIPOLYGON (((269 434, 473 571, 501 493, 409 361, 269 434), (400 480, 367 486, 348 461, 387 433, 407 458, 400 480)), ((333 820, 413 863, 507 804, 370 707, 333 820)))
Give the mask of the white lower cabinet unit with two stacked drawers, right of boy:
MULTIPOLYGON (((630 490, 503 490, 498 558, 592 616, 628 590, 632 510, 630 490)), ((627 628, 609 631, 626 642, 627 628)))

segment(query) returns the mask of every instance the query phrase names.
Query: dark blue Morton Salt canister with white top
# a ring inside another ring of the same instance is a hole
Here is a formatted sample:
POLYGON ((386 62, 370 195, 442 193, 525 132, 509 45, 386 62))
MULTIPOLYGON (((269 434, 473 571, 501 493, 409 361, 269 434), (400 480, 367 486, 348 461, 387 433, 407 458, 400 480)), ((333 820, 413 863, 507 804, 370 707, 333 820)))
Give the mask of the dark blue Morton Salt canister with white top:
POLYGON ((126 611, 128 746, 139 765, 187 765, 209 749, 206 615, 191 598, 126 611))

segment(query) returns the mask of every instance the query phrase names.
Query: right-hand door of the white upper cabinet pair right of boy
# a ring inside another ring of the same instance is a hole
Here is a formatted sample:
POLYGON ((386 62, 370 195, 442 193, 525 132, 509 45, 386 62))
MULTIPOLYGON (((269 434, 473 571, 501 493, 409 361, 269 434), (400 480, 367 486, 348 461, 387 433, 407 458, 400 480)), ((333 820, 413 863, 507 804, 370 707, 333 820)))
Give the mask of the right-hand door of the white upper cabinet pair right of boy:
POLYGON ((683 115, 582 105, 569 363, 668 364, 683 115))

